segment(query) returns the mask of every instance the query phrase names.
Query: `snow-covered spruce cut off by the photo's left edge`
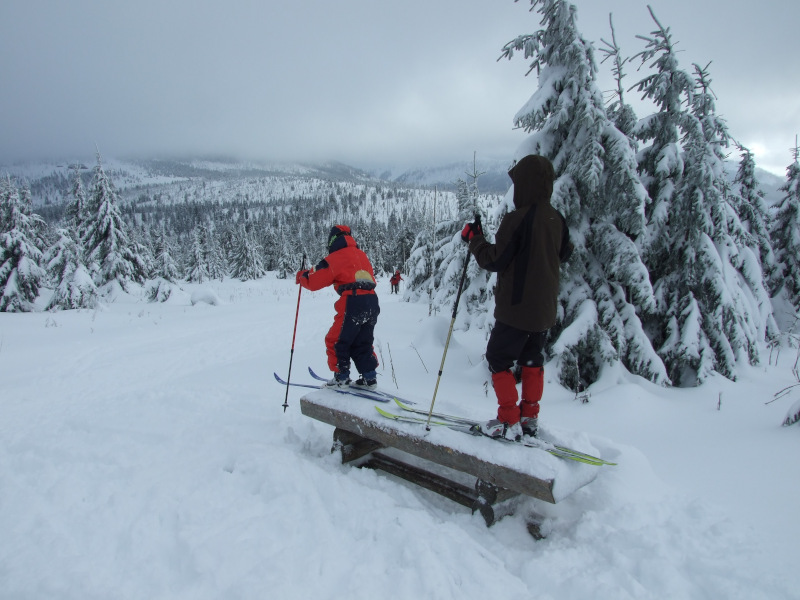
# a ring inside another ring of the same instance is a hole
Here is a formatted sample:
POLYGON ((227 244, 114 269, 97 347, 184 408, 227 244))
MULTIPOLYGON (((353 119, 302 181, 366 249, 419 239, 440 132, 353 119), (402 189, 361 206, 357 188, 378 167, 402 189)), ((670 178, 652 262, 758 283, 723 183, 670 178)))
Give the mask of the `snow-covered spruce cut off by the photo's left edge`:
POLYGON ((20 195, 11 178, 0 180, 0 312, 29 312, 47 274, 41 231, 30 194, 20 195))

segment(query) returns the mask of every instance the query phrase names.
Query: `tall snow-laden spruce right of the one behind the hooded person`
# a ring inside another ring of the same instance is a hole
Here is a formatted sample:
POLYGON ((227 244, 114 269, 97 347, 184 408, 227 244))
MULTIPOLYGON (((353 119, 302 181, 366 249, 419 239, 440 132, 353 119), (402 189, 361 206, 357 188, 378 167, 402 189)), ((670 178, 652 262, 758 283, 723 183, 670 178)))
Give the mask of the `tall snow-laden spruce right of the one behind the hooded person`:
POLYGON ((638 56, 652 60, 655 72, 636 86, 659 108, 636 128, 649 143, 639 165, 653 199, 645 259, 657 312, 647 325, 673 383, 696 385, 714 371, 735 378, 737 360, 758 361, 770 308, 759 262, 739 241, 746 232, 728 201, 723 150, 730 137, 707 70, 695 66, 696 81, 681 70, 669 29, 650 13, 657 29, 639 36, 647 47, 638 56))

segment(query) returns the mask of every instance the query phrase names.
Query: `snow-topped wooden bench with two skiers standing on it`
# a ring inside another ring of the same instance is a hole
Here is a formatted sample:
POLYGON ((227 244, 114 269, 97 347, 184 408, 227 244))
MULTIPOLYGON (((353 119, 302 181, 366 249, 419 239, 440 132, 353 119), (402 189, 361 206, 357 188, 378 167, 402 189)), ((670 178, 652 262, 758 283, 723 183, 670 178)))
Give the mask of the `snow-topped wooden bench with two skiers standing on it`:
POLYGON ((597 473, 597 467, 543 450, 386 419, 376 404, 389 408, 322 390, 301 398, 300 410, 335 427, 334 450, 341 451, 342 462, 358 461, 446 496, 480 511, 487 525, 500 516, 497 504, 520 494, 556 503, 597 473))

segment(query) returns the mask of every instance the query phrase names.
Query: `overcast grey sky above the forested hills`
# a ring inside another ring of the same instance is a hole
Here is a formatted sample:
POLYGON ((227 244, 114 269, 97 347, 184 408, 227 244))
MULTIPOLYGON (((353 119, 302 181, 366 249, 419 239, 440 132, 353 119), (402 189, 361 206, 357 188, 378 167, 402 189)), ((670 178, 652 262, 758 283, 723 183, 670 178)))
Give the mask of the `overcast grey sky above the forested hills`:
MULTIPOLYGON (((644 48, 648 2, 574 0, 644 48)), ((797 0, 651 0, 681 67, 712 61, 731 134, 779 175, 800 133, 797 0)), ((356 166, 511 157, 536 90, 503 45, 529 0, 0 0, 0 162, 174 154, 356 166)), ((598 53, 598 60, 601 55, 598 53)), ((635 65, 634 65, 635 66, 635 65)), ((625 83, 644 75, 631 66, 625 83)), ((608 64, 601 88, 612 87, 608 64)), ((635 92, 628 99, 637 100, 635 92)), ((635 104, 635 103, 634 103, 635 104)), ((639 117, 650 109, 639 108, 639 117)))

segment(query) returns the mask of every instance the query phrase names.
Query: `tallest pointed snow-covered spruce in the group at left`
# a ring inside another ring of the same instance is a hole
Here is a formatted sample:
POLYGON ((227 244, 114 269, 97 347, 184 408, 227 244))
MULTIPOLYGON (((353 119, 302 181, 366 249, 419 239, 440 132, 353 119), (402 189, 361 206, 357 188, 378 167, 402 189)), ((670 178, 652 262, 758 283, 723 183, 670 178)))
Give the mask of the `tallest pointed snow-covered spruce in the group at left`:
POLYGON ((98 286, 117 281, 126 289, 130 282, 144 281, 147 266, 128 236, 117 192, 103 169, 99 152, 81 241, 98 286))

